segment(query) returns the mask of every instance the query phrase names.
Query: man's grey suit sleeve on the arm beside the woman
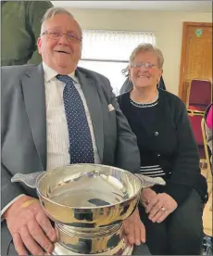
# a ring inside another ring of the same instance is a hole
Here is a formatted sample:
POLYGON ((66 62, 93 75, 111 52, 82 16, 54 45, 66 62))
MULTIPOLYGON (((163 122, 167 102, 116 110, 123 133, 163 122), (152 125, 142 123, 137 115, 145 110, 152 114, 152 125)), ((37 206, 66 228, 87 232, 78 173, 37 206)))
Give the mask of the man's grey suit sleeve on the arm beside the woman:
POLYGON ((112 92, 112 87, 108 82, 105 94, 108 96, 108 104, 111 103, 116 111, 117 118, 117 150, 116 150, 116 166, 132 173, 139 173, 140 171, 140 153, 137 146, 137 139, 132 133, 129 122, 119 109, 119 103, 112 92))

